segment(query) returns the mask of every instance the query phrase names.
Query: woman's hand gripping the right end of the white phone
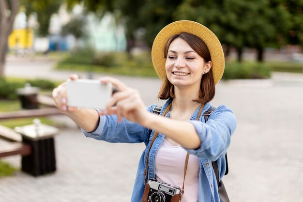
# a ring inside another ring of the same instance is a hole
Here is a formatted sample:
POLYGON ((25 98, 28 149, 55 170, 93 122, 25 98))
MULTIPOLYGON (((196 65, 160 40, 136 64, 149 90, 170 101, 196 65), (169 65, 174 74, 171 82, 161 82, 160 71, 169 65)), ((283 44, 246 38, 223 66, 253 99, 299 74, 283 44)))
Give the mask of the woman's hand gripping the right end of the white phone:
MULTIPOLYGON (((118 122, 121 122, 122 117, 125 117, 129 121, 143 124, 148 117, 148 110, 138 90, 128 87, 116 78, 104 77, 100 79, 102 83, 111 83, 118 89, 118 92, 113 94, 106 106, 107 114, 117 114, 118 122)), ((104 112, 100 114, 104 114, 104 112)))

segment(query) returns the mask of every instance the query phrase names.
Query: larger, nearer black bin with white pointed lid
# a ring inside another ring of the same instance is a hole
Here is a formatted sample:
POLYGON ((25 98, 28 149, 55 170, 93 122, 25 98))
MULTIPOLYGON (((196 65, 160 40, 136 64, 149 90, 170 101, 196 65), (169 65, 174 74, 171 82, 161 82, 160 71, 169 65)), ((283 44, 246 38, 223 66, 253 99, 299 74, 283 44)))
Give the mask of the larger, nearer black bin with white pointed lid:
POLYGON ((54 136, 58 128, 41 124, 39 119, 34 124, 15 127, 22 136, 22 142, 31 146, 31 155, 22 156, 22 171, 33 176, 40 176, 56 171, 54 136))

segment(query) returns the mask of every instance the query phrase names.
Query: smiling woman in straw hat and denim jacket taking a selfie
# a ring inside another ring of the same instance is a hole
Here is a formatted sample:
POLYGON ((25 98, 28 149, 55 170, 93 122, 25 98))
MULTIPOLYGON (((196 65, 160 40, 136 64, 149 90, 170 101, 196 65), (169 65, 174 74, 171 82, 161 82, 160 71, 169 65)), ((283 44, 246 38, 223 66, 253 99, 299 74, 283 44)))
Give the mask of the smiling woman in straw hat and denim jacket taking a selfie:
POLYGON ((101 82, 112 83, 119 92, 113 95, 106 111, 67 107, 65 84, 54 90, 55 103, 87 137, 145 143, 132 202, 147 201, 152 178, 182 187, 178 196, 182 202, 219 202, 212 161, 217 160, 221 179, 237 123, 233 112, 224 105, 213 110, 207 123, 201 112, 212 108, 209 102, 214 97, 214 86, 223 75, 221 44, 203 25, 177 21, 158 33, 152 47, 152 62, 163 81, 158 97, 167 99, 160 115, 153 113, 155 106, 145 107, 138 91, 109 77, 101 78, 101 82), (187 153, 190 155, 185 163, 187 153), (144 192, 145 187, 148 188, 144 192))

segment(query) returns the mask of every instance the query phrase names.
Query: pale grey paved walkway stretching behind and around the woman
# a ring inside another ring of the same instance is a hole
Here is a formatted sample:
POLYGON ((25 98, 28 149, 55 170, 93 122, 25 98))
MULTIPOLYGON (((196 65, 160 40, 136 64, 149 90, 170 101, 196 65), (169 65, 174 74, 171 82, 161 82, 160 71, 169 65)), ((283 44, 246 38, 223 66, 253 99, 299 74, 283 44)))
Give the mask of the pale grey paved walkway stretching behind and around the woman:
MULTIPOLYGON (((70 74, 55 72, 52 65, 9 61, 6 73, 63 80, 70 74)), ((161 104, 155 99, 158 79, 119 78, 138 88, 147 105, 161 104)), ((302 74, 217 85, 212 104, 226 104, 238 119, 224 178, 232 202, 303 202, 302 103, 302 74)), ((85 138, 64 116, 54 118, 68 124, 56 137, 58 171, 37 178, 22 172, 1 178, 0 202, 129 202, 144 145, 85 138)), ((19 156, 4 160, 20 167, 19 156)))

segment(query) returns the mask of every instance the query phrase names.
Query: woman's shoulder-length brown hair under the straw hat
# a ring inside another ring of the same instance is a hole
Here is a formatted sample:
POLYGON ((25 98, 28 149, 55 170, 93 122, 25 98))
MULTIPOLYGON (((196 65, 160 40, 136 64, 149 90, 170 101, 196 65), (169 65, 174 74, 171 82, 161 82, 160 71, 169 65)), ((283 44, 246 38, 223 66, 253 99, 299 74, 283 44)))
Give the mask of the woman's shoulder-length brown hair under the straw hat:
MULTIPOLYGON (((197 37, 196 35, 187 32, 181 32, 179 34, 173 35, 168 39, 164 49, 164 58, 167 58, 168 48, 171 42, 176 38, 181 38, 184 41, 186 41, 186 43, 190 47, 192 47, 199 56, 201 56, 204 59, 204 62, 211 61, 210 51, 206 46, 206 44, 204 43, 204 41, 199 37, 197 37)), ((211 69, 211 71, 203 75, 200 84, 199 98, 193 101, 198 103, 206 103, 213 99, 214 94, 215 94, 215 84, 214 84, 212 69, 211 69)), ((175 89, 174 89, 174 85, 172 85, 169 82, 166 76, 165 80, 162 83, 161 89, 159 91, 158 98, 162 100, 166 100, 170 97, 171 98, 175 97, 175 89)))

